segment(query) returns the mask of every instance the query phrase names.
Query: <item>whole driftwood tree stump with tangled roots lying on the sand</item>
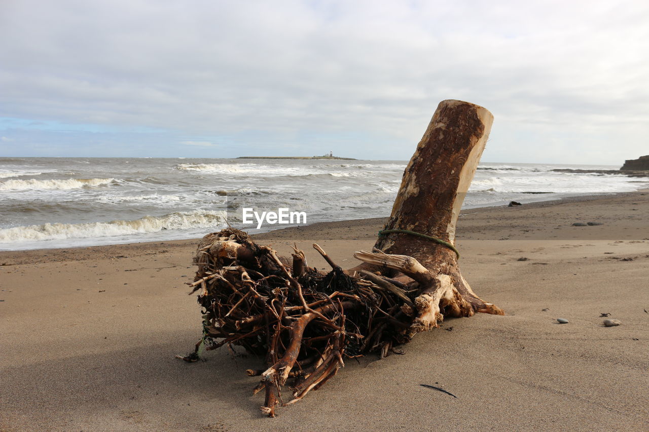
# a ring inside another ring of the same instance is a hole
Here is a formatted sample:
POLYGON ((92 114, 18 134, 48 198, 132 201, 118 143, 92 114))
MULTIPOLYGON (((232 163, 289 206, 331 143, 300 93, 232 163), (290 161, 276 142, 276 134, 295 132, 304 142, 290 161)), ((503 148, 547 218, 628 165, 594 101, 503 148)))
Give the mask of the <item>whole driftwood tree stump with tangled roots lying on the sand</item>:
POLYGON ((469 287, 454 248, 456 222, 484 149, 493 115, 469 102, 443 101, 408 163, 391 217, 373 251, 341 269, 320 246, 328 273, 309 267, 304 252, 292 259, 254 243, 234 228, 206 235, 197 251, 202 349, 238 344, 265 355, 262 412, 295 403, 334 376, 344 359, 378 352, 438 326, 446 317, 476 312, 502 315, 469 287), (220 340, 219 340, 220 339, 220 340), (282 401, 290 383, 293 399, 282 401))

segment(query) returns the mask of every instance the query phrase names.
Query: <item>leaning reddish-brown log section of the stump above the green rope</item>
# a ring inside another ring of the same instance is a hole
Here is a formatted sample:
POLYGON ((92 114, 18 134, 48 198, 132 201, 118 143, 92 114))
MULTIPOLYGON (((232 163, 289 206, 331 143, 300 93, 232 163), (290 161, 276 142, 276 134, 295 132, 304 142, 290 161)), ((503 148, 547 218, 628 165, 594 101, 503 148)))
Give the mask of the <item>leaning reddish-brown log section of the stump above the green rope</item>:
MULTIPOLYGON (((493 115, 482 106, 439 102, 406 167, 386 230, 413 230, 454 243, 459 210, 478 168, 491 123, 493 115)), ((396 247, 400 254, 421 257, 424 265, 428 258, 434 258, 427 253, 431 245, 419 239, 413 243, 412 237, 402 234, 389 234, 376 242, 376 247, 386 253, 396 247)))

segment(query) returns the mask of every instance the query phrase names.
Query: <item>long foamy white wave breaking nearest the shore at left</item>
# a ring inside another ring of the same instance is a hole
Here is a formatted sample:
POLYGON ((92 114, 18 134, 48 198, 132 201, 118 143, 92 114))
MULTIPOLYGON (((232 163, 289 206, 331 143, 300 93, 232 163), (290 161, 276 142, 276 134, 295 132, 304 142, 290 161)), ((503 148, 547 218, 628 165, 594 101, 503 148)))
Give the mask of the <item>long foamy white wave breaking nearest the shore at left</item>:
POLYGON ((186 213, 169 213, 158 217, 145 216, 134 221, 15 226, 0 230, 0 243, 114 237, 116 235, 149 234, 162 230, 189 228, 220 228, 225 223, 226 217, 225 211, 196 210, 186 213))

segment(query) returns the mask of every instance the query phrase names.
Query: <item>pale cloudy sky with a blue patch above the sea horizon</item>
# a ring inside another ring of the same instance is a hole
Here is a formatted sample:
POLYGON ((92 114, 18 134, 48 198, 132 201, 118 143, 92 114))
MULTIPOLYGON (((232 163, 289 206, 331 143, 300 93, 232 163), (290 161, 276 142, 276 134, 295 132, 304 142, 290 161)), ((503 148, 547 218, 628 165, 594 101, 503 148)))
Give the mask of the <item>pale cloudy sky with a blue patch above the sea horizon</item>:
POLYGON ((0 156, 408 160, 443 99, 484 162, 649 154, 649 2, 1 0, 0 156))

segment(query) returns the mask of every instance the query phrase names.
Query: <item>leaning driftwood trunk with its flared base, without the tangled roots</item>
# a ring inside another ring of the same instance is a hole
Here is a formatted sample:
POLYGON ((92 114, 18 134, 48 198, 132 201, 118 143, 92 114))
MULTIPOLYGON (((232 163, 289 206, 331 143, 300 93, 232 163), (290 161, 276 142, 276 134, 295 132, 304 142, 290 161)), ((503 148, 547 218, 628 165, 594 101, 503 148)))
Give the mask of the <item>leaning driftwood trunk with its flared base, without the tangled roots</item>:
MULTIPOLYGON (((482 106, 462 101, 442 101, 404 172, 403 180, 384 230, 409 230, 454 245, 459 211, 480 162, 493 115, 482 106)), ((385 254, 415 258, 436 282, 428 282, 417 298, 417 319, 410 335, 436 327, 443 315, 470 317, 475 312, 502 315, 484 302, 461 276, 456 252, 446 245, 413 234, 389 233, 374 248, 385 254)), ((414 279, 405 269, 388 265, 379 257, 351 270, 380 271, 404 282, 414 279), (377 261, 378 259, 378 261, 377 261), (408 280, 407 278, 405 279, 408 280)), ((421 277, 420 272, 420 277, 421 277)))

